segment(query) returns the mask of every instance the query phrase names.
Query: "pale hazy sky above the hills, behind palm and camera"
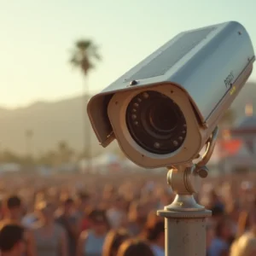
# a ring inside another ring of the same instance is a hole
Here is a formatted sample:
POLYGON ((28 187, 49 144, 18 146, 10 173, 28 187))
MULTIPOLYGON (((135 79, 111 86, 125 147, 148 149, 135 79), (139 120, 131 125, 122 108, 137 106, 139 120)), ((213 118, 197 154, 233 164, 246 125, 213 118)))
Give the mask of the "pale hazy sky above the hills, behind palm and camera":
MULTIPOLYGON (((247 28, 256 49, 255 0, 0 0, 0 106, 77 96, 83 79, 67 61, 92 38, 103 61, 97 92, 178 32, 227 20, 247 28)), ((256 71, 252 79, 256 80, 256 71)))

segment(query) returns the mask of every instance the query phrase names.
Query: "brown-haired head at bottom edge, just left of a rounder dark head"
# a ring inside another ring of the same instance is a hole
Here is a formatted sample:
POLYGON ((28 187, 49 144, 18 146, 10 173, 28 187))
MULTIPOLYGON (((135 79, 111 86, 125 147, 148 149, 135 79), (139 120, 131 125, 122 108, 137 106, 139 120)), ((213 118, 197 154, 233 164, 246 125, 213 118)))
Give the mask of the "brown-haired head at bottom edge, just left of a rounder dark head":
POLYGON ((120 245, 130 238, 127 230, 110 230, 103 245, 102 256, 117 256, 120 245))

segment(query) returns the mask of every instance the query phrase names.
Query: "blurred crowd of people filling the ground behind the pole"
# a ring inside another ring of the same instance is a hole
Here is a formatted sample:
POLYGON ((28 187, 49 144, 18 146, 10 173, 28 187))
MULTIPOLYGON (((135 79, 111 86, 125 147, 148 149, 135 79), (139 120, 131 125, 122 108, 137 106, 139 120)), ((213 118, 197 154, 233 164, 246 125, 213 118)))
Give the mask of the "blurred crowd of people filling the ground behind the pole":
MULTIPOLYGON (((156 211, 175 196, 165 176, 3 175, 1 255, 164 256, 164 219, 156 211)), ((255 181, 247 173, 202 183, 196 200, 212 210, 207 256, 256 255, 255 181)))

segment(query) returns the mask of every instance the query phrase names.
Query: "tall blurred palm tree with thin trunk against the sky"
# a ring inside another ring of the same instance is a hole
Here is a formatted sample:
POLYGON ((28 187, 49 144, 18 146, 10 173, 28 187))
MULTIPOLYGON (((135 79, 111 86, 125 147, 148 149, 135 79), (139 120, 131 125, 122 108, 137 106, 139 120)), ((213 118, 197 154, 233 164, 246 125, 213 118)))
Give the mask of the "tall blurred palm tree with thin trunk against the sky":
MULTIPOLYGON (((86 78, 90 71, 95 67, 95 62, 100 60, 101 56, 98 54, 98 48, 91 40, 80 39, 75 43, 70 63, 73 67, 79 68, 79 70, 83 73, 84 78, 86 78)), ((89 86, 88 84, 84 83, 84 154, 85 152, 88 154, 88 170, 90 170, 90 127, 86 127, 85 119, 87 105, 86 96, 88 96, 88 94, 89 86)))

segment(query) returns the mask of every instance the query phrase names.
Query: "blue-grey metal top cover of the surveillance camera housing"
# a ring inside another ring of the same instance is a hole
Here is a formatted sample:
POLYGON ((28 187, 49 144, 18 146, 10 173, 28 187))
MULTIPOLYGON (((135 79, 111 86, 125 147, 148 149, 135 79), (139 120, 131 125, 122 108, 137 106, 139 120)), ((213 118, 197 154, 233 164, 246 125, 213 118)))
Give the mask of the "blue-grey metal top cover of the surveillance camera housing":
POLYGON ((225 79, 232 73, 234 82, 253 57, 251 39, 236 21, 182 32, 102 93, 124 89, 134 79, 139 80, 137 86, 172 82, 188 92, 201 117, 207 119, 230 89, 225 79))

